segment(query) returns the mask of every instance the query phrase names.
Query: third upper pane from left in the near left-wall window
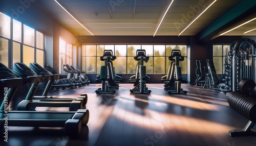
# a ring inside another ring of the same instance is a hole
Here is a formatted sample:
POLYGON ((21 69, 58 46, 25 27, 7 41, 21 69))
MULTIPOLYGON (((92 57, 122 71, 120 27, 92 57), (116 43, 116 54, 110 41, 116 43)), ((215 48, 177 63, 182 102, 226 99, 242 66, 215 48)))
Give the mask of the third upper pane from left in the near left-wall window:
POLYGON ((35 30, 23 25, 23 40, 24 44, 35 46, 35 30))

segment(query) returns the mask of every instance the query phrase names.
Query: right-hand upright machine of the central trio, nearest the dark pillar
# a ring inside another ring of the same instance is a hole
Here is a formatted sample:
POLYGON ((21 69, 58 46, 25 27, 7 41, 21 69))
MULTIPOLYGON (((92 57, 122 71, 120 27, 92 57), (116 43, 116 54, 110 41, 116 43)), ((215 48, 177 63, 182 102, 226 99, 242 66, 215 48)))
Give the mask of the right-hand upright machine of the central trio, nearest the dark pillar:
POLYGON ((168 74, 161 78, 165 83, 164 90, 168 90, 168 94, 186 94, 187 91, 181 88, 182 74, 179 66, 184 57, 181 56, 180 50, 172 50, 168 59, 171 61, 168 74))

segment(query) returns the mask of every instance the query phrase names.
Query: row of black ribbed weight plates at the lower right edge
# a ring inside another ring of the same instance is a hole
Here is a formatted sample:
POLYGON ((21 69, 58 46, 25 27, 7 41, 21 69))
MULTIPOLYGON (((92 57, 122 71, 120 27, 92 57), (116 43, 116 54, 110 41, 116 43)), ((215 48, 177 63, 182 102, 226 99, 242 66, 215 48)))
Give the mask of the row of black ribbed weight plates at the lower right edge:
POLYGON ((254 123, 256 122, 256 98, 236 91, 228 95, 227 102, 232 109, 254 123))

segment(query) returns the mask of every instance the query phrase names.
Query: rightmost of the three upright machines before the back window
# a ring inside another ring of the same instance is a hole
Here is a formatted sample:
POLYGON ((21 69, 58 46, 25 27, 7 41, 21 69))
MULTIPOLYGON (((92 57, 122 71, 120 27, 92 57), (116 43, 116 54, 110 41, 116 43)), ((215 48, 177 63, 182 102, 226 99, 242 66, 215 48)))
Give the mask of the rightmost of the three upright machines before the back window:
POLYGON ((182 74, 181 74, 181 67, 179 66, 179 64, 180 64, 180 61, 184 60, 184 57, 181 56, 180 50, 172 50, 169 60, 173 61, 171 63, 172 72, 170 72, 170 78, 169 78, 170 80, 166 84, 167 85, 175 84, 175 88, 170 88, 170 90, 168 90, 167 93, 168 94, 186 94, 187 91, 181 89, 182 74), (176 76, 176 79, 174 79, 174 74, 176 76))

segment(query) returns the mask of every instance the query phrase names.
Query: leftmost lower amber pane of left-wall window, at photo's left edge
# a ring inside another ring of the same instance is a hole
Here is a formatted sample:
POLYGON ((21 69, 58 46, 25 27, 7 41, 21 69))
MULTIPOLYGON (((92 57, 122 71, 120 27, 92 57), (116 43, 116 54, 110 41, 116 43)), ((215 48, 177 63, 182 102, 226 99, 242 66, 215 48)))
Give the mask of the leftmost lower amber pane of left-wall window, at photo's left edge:
POLYGON ((8 67, 8 40, 0 38, 0 62, 8 67))

